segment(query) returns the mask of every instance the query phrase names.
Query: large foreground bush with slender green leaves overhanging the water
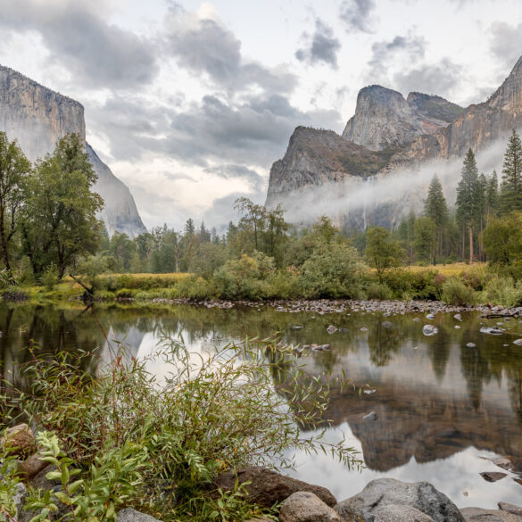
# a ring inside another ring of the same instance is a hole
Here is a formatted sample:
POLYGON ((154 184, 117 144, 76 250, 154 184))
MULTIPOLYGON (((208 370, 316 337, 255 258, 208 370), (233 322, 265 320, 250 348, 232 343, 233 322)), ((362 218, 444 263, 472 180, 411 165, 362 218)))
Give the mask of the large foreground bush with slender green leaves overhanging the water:
POLYGON ((112 519, 108 511, 112 516, 121 503, 112 486, 118 485, 114 473, 123 469, 126 505, 160 513, 165 522, 203 522, 253 517, 240 491, 221 494, 218 501, 207 496, 220 472, 291 466, 295 449, 332 452, 348 466, 360 465, 344 441, 302 436, 300 427, 325 425, 321 415, 331 381, 307 375, 291 350, 258 341, 195 357, 182 344, 165 343, 162 352, 144 360, 116 350, 112 364, 96 377, 79 372, 87 354, 34 360, 25 369, 34 385, 22 394, 21 408, 38 431, 53 434, 47 438, 55 439, 50 446, 62 460, 59 470, 63 463, 70 468, 66 474, 74 469, 84 481, 77 487, 92 491, 93 469, 95 476, 112 469, 112 482, 107 478, 106 487, 95 492, 98 519, 112 519), (147 371, 157 360, 169 376, 161 383, 147 371))

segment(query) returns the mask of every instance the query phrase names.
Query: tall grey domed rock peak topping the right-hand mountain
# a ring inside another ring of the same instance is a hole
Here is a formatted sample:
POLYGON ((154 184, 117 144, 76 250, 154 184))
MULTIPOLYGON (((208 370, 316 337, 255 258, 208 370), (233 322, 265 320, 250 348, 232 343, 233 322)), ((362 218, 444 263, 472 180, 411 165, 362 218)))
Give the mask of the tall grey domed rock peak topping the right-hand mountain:
POLYGON ((416 137, 432 134, 459 116, 462 109, 440 96, 401 93, 377 85, 364 87, 357 96, 355 114, 343 137, 380 151, 410 144, 416 137))

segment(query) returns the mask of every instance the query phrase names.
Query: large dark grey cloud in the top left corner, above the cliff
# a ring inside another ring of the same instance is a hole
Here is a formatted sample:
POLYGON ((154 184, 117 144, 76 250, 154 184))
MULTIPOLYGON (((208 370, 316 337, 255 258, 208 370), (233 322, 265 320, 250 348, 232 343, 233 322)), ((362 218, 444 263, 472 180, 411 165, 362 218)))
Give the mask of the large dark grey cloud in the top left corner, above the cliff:
POLYGON ((51 51, 49 62, 62 65, 84 87, 131 89, 150 83, 159 70, 153 45, 109 25, 92 7, 37 0, 3 3, 0 26, 39 33, 51 51))

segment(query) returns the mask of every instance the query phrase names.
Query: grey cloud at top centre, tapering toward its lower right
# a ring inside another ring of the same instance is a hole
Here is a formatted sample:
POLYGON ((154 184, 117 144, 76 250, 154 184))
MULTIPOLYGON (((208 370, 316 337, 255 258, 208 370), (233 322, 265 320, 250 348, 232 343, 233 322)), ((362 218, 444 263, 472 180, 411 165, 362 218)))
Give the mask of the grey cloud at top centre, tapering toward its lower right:
POLYGON ((168 52, 181 67, 195 74, 205 72, 220 87, 243 90, 253 84, 272 92, 291 92, 296 77, 285 70, 270 70, 257 62, 247 62, 241 42, 217 21, 199 20, 186 29, 170 21, 168 52))

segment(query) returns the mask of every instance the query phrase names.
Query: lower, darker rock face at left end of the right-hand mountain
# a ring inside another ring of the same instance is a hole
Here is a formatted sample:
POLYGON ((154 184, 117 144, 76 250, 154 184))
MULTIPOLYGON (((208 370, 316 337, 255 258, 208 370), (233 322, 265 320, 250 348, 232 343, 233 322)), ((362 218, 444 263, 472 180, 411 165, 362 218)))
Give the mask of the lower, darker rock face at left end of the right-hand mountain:
POLYGON ((298 127, 282 160, 272 165, 267 205, 273 206, 303 186, 321 186, 355 176, 366 178, 385 167, 390 153, 375 152, 333 130, 298 127))

